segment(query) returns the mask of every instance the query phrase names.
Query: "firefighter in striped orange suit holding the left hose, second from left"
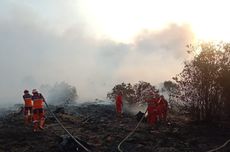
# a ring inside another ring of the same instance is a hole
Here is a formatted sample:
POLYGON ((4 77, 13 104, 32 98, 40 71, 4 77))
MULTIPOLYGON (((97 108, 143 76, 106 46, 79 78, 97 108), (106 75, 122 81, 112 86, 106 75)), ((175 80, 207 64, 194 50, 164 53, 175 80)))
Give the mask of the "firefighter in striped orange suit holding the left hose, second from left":
POLYGON ((41 93, 38 93, 36 89, 33 89, 32 93, 33 93, 32 100, 33 100, 33 123, 34 123, 33 131, 37 132, 39 129, 44 129, 45 114, 44 114, 43 102, 45 102, 45 98, 42 96, 41 93))

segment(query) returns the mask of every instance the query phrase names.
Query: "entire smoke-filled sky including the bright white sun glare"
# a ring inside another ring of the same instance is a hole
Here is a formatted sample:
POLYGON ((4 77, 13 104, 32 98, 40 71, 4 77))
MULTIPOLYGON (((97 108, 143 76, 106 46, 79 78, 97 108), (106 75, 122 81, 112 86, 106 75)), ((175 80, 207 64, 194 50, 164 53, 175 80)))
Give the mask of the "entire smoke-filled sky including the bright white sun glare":
POLYGON ((81 100, 114 85, 159 84, 183 68, 186 45, 229 41, 228 0, 1 0, 0 103, 65 81, 81 100))

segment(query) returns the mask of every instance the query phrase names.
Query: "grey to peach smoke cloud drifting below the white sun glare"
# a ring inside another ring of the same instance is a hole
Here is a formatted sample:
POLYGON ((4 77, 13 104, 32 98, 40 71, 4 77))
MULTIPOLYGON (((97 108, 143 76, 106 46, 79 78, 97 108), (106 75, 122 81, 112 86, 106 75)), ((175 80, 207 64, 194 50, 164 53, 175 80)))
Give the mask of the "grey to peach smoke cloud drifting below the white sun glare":
POLYGON ((132 43, 116 42, 90 32, 92 25, 70 11, 72 2, 48 1, 44 11, 35 1, 0 2, 0 106, 21 103, 24 89, 43 84, 65 81, 80 100, 105 99, 117 83, 155 84, 180 71, 185 45, 193 40, 187 25, 149 29, 132 43), (55 13, 49 13, 51 6, 55 13))

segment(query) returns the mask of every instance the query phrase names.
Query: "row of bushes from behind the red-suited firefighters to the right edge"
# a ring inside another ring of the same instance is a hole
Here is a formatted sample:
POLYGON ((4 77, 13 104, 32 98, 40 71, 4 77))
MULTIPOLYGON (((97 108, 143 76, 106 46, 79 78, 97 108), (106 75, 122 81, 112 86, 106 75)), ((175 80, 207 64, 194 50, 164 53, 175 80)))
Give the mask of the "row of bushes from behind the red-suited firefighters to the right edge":
MULTIPOLYGON (((230 43, 187 45, 187 52, 191 58, 184 62, 183 70, 172 80, 163 82, 161 91, 168 93, 169 104, 172 107, 175 103, 182 103, 197 121, 229 117, 230 43)), ((107 98, 113 100, 119 90, 130 104, 143 103, 149 92, 159 93, 154 85, 140 81, 134 85, 115 85, 107 98)))

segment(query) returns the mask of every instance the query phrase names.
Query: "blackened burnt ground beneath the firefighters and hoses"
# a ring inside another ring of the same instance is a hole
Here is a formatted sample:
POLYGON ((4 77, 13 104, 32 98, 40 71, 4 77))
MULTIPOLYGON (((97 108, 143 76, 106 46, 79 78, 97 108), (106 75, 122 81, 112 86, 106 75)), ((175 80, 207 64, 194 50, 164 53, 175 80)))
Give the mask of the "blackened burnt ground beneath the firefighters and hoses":
MULTIPOLYGON (((113 105, 81 105, 51 109, 63 125, 93 152, 116 152, 118 144, 138 123, 136 116, 124 114, 116 118, 113 105)), ((124 152, 206 152, 230 138, 229 124, 195 124, 179 116, 168 123, 151 128, 142 123, 125 141, 124 152)), ((84 151, 66 135, 47 113, 45 130, 32 132, 25 126, 19 111, 0 118, 0 152, 72 152, 84 151)), ((227 145, 221 152, 230 151, 227 145)))

